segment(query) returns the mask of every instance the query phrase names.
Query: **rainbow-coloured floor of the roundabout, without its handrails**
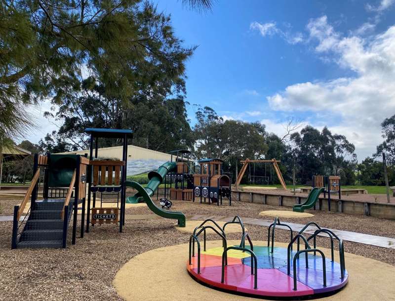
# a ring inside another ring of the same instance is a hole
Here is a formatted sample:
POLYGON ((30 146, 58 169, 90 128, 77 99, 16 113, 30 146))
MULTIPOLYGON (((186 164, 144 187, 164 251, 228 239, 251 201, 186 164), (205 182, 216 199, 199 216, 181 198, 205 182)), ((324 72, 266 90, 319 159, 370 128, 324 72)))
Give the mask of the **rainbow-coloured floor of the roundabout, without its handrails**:
POLYGON ((224 270, 224 283, 221 283, 222 256, 219 252, 221 249, 213 248, 201 253, 200 274, 197 273, 197 255, 192 257, 191 265, 187 261, 190 275, 201 283, 231 293, 284 298, 334 292, 344 287, 348 281, 347 271, 342 279, 340 264, 326 259, 326 287, 323 287, 322 258, 318 255, 309 255, 309 267, 306 268, 305 257, 301 256, 296 265, 297 290, 293 290, 293 266, 291 265, 290 275, 287 275, 286 249, 275 248, 272 254, 266 247, 254 246, 258 259, 258 288, 254 289, 254 275, 251 274, 248 253, 240 255, 240 253, 229 252, 228 265, 224 270))

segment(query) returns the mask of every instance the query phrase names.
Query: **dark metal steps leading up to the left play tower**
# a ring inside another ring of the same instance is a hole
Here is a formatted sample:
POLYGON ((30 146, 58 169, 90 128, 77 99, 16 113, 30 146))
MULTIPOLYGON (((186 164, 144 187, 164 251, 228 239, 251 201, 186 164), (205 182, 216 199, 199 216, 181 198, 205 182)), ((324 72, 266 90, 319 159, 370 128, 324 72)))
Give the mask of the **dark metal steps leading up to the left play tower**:
MULTIPOLYGON (((20 234, 16 248, 62 248, 64 227, 70 223, 73 206, 68 207, 67 221, 62 219, 64 199, 36 201, 20 234)), ((66 233, 67 235, 67 233, 66 233)))

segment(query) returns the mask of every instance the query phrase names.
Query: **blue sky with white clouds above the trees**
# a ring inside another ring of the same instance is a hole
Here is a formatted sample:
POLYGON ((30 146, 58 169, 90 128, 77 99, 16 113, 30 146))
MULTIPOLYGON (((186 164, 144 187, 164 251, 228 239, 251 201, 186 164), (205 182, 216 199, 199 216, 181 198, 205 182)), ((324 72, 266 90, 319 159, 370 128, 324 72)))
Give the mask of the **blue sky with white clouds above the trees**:
MULTIPOLYGON (((358 161, 383 141, 380 124, 395 114, 395 0, 217 0, 203 13, 154 2, 197 46, 186 64, 192 124, 196 105, 278 135, 293 118, 344 134, 358 161)), ((41 117, 48 109, 35 109, 32 142, 57 127, 41 117)))

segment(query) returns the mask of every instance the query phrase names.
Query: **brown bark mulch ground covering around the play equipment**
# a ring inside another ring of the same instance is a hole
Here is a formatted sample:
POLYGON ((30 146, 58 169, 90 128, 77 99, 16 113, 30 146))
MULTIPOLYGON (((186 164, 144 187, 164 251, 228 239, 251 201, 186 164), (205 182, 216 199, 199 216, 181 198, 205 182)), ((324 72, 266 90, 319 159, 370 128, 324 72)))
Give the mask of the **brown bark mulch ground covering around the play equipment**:
MULTIPOLYGON (((183 211, 187 215, 258 217, 259 212, 273 209, 265 205, 246 205, 235 203, 232 207, 217 207, 180 201, 174 202, 173 210, 183 211)), ((278 207, 276 209, 278 210, 278 207)), ((150 213, 147 208, 129 209, 127 212, 127 214, 150 213)), ((367 217, 365 219, 359 215, 313 213, 316 214, 313 219, 323 226, 347 228, 350 231, 359 229, 359 231, 364 230, 363 233, 395 236, 395 221, 367 217), (358 219, 362 221, 357 222, 358 219), (389 229, 384 229, 387 227, 389 229), (390 229, 391 227, 393 229, 390 229)), ((292 221, 305 222, 300 219, 292 221)), ((174 220, 169 219, 126 220, 123 233, 118 233, 118 227, 115 225, 95 226, 83 239, 78 239, 76 245, 70 245, 65 250, 10 250, 12 223, 1 222, 0 300, 120 301, 111 282, 125 262, 148 250, 188 242, 189 234, 178 231, 173 225, 174 220)), ((267 227, 248 225, 248 231, 253 240, 267 240, 267 227)), ((239 236, 240 234, 228 235, 230 239, 239 239, 239 236)), ((218 237, 209 235, 208 239, 217 240, 218 237)), ((288 240, 288 231, 276 229, 276 241, 288 242, 288 240)), ((329 242, 324 238, 318 238, 317 245, 330 247, 329 242)), ((349 253, 395 265, 395 250, 350 242, 345 242, 345 249, 349 253)), ((188 255, 185 256, 187 258, 188 255)), ((158 283, 158 287, 165 285, 167 279, 163 281, 158 283)))

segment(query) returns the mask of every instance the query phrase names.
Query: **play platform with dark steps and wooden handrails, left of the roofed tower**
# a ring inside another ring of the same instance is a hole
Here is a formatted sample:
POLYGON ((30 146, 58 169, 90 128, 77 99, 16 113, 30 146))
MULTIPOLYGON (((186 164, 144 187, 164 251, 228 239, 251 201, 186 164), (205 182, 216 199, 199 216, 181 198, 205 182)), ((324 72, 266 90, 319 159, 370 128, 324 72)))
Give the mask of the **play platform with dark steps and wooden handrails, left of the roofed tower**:
POLYGON ((80 155, 35 154, 32 182, 21 205, 14 207, 12 249, 66 248, 72 216, 72 244, 75 244, 79 205, 83 237, 88 166, 89 160, 80 155), (43 199, 37 200, 40 176, 43 199))

